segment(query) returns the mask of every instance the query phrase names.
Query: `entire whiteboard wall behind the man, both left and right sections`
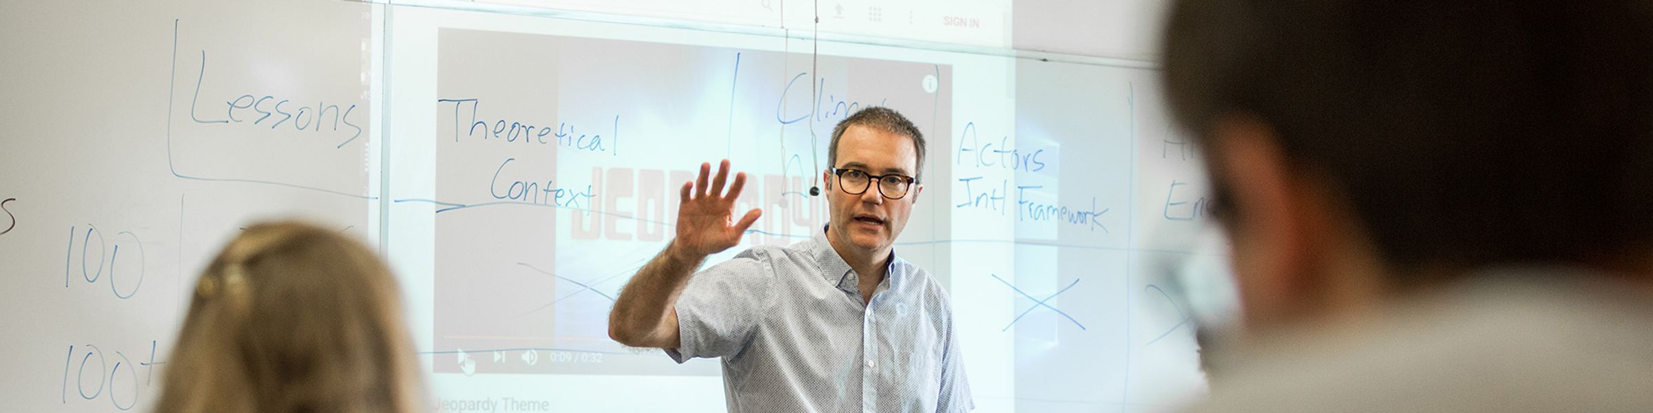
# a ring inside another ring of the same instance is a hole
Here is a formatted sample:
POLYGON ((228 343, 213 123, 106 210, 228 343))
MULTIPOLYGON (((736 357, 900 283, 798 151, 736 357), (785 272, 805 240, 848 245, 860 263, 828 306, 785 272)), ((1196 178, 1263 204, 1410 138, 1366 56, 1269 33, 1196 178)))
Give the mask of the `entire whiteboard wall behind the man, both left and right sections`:
MULTIPOLYGON (((818 230, 803 193, 831 126, 871 104, 927 134, 896 251, 947 286, 979 411, 1202 392, 1179 279, 1220 278, 1222 243, 1150 63, 813 41, 752 5, 445 7, 0 5, 8 406, 147 411, 198 271, 238 228, 298 216, 392 263, 436 411, 722 411, 716 362, 613 344, 607 309, 699 162, 752 177, 741 208, 765 215, 741 248, 818 230)), ((883 30, 865 36, 947 41, 883 30)))

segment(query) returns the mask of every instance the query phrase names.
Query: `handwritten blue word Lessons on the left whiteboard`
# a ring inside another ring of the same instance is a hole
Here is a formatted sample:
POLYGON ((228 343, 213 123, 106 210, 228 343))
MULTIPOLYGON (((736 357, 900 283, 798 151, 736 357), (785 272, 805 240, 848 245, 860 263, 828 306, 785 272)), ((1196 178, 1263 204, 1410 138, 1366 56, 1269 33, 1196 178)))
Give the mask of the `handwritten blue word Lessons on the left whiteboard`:
POLYGON ((314 106, 309 106, 309 101, 294 102, 286 96, 250 93, 222 101, 223 106, 218 106, 217 102, 202 106, 202 84, 205 81, 207 51, 203 50, 200 76, 195 78, 195 96, 190 97, 190 119, 197 124, 243 124, 269 127, 274 131, 301 132, 327 131, 331 137, 337 139, 334 140, 337 142, 334 149, 344 147, 355 142, 357 137, 362 137, 362 126, 350 119, 350 116, 355 114, 355 104, 339 106, 327 104, 326 101, 316 101, 314 106), (218 111, 223 111, 222 116, 218 111), (339 124, 344 124, 349 131, 339 131, 339 124))

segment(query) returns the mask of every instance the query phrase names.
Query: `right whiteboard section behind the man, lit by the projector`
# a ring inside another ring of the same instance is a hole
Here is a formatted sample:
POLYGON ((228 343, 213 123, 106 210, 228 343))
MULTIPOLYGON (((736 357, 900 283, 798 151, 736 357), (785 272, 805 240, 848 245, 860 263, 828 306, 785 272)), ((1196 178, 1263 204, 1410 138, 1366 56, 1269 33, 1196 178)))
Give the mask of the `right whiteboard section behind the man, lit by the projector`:
POLYGON ((765 211, 709 263, 817 231, 803 192, 868 104, 927 134, 896 253, 949 287, 980 411, 1202 392, 1170 281, 1220 253, 1152 69, 440 8, 393 8, 387 36, 388 256, 445 411, 722 411, 716 360, 610 342, 608 307, 701 162, 765 211))

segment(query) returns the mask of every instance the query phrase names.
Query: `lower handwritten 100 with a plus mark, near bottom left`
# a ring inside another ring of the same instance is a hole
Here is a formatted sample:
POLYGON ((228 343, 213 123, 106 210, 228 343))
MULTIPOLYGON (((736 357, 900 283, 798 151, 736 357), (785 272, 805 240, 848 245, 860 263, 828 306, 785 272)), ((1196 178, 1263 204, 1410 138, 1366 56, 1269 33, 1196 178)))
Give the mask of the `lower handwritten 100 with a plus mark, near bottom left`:
MULTIPOLYGON (((142 358, 141 358, 142 360, 142 358)), ((94 344, 69 345, 63 358, 63 392, 60 403, 69 403, 69 388, 79 400, 107 398, 117 410, 132 410, 139 387, 152 387, 155 378, 155 342, 149 342, 149 360, 132 363, 124 352, 104 352, 94 344), (144 373, 139 373, 139 368, 144 373)))

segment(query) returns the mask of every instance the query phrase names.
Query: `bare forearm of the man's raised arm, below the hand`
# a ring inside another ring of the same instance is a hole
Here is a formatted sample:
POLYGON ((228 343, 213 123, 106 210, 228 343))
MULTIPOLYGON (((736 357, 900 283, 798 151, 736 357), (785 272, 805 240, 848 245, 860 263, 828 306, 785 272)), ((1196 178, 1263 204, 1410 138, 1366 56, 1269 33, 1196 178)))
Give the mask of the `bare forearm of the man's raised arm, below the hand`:
POLYGON ((683 251, 676 241, 666 244, 620 291, 608 312, 608 337, 631 347, 678 347, 671 309, 704 261, 704 254, 683 251), (668 320, 671 325, 666 325, 668 320))

